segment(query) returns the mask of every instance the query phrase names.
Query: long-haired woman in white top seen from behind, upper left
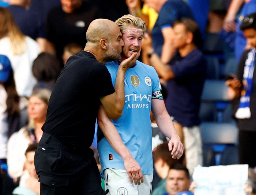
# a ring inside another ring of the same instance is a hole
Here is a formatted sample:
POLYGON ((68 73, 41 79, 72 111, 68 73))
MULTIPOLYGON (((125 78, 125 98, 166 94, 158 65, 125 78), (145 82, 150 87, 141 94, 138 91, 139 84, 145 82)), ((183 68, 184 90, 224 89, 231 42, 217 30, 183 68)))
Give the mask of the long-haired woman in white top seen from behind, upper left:
POLYGON ((8 9, 0 8, 0 54, 6 55, 11 61, 20 97, 30 97, 32 93, 36 83, 32 63, 39 52, 38 43, 20 32, 8 9))

